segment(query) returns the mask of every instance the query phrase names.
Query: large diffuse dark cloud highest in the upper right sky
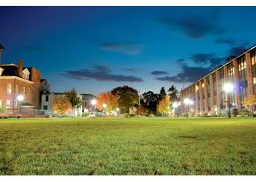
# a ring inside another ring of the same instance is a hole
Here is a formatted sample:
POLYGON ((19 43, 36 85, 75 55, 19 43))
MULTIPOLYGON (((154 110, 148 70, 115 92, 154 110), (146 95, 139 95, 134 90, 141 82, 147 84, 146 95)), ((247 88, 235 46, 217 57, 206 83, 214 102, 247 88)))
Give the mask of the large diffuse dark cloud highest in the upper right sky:
POLYGON ((186 15, 172 15, 160 20, 170 31, 184 33, 189 38, 201 39, 206 35, 220 35, 225 32, 221 25, 221 16, 218 9, 208 12, 188 13, 186 15))

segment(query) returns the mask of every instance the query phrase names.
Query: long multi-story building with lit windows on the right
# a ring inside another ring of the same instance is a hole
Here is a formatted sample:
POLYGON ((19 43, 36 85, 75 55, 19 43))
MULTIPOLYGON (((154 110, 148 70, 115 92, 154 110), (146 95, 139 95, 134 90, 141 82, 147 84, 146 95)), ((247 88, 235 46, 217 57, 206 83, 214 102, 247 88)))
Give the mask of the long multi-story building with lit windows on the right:
POLYGON ((223 66, 203 76, 180 92, 181 114, 219 114, 227 106, 243 109, 243 100, 256 94, 256 45, 237 57, 230 57, 223 66), (226 93, 223 86, 233 85, 233 92, 226 93), (192 100, 185 104, 184 100, 192 100))

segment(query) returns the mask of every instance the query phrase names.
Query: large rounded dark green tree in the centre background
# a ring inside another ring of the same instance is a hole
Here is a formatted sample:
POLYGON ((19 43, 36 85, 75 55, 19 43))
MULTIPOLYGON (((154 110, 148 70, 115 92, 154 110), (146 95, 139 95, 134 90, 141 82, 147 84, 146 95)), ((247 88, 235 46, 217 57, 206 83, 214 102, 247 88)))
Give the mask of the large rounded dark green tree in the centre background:
POLYGON ((135 106, 135 103, 138 104, 139 95, 138 91, 132 87, 116 87, 111 93, 116 96, 118 106, 121 109, 121 112, 128 112, 129 107, 135 106))

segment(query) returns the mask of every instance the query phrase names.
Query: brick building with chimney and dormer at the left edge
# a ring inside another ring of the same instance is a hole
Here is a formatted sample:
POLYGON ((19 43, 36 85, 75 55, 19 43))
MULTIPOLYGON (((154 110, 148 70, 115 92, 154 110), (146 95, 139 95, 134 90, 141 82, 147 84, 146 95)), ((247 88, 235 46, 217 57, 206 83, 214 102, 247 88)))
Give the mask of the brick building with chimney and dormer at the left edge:
POLYGON ((33 114, 39 109, 41 72, 36 68, 23 67, 23 61, 0 65, 0 108, 5 114, 33 114), (18 95, 23 96, 19 101, 18 95))

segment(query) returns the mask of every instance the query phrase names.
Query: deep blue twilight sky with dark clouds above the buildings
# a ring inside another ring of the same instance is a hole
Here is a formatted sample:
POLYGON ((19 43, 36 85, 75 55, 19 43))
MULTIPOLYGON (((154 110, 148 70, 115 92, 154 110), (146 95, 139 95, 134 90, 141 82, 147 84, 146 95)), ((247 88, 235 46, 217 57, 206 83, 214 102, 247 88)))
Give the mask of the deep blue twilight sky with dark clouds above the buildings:
POLYGON ((2 63, 51 91, 159 92, 197 81, 256 42, 256 7, 0 7, 2 63))

